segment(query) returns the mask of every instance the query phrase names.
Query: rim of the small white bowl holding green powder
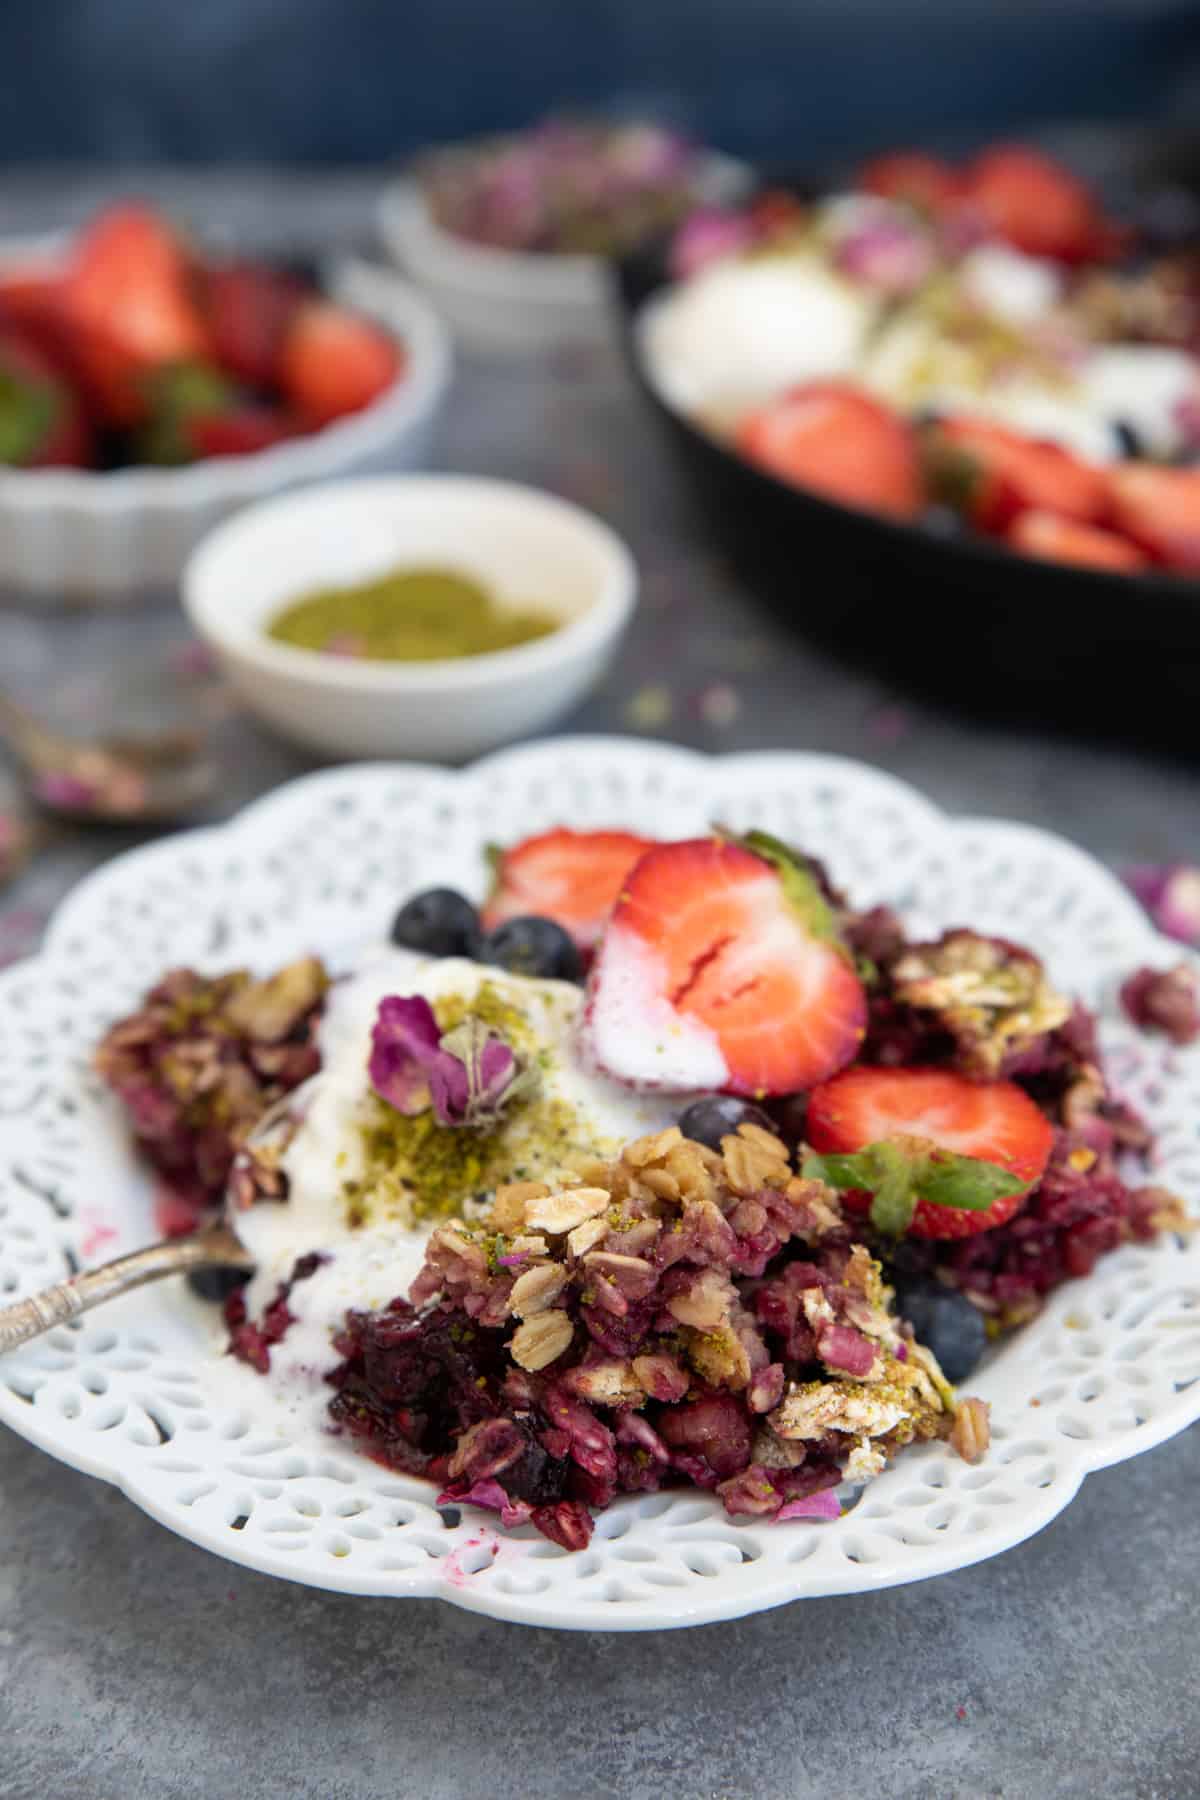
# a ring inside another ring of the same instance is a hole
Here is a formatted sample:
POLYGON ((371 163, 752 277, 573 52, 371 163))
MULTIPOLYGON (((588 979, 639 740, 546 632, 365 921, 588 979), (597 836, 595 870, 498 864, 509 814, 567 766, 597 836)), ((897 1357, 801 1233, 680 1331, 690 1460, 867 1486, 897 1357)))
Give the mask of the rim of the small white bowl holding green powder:
POLYGON ((509 677, 552 673, 563 662, 606 643, 624 630, 637 598, 637 563, 633 553, 594 513, 556 493, 531 488, 518 481, 495 481, 484 475, 360 475, 329 481, 302 493, 282 493, 261 506, 248 508, 216 526, 193 551, 182 581, 184 610, 193 626, 219 652, 237 657, 241 664, 257 664, 277 675, 304 677, 308 684, 336 693, 461 693, 466 688, 504 684, 509 677), (277 527, 281 518, 302 511, 306 518, 322 502, 340 502, 356 497, 363 504, 380 504, 401 495, 428 495, 435 504, 439 491, 455 499, 477 497, 486 502, 511 504, 527 513, 542 513, 567 522, 588 547, 608 565, 603 587, 585 610, 556 626, 547 637, 511 650, 493 650, 477 657, 446 657, 432 662, 365 662, 353 657, 329 657, 318 650, 295 650, 275 644, 264 635, 232 641, 225 626, 223 596, 236 601, 236 578, 228 565, 236 558, 254 560, 254 540, 263 527, 277 527))

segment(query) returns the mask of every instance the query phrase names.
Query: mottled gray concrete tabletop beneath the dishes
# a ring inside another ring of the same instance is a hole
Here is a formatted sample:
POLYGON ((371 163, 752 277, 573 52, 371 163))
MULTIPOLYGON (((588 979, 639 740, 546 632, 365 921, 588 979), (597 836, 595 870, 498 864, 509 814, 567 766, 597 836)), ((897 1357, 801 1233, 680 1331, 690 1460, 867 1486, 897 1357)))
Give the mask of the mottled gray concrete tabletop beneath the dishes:
MULTIPOLYGON (((367 232, 362 178, 158 185, 246 238, 320 247, 367 232)), ((5 180, 0 230, 52 223, 99 191, 5 180)), ((842 751, 954 810, 1047 824, 1114 862, 1200 857, 1182 765, 968 731, 766 623, 703 547, 613 358, 464 367, 437 463, 552 486, 633 544, 635 630, 569 725, 644 729, 653 715, 655 734, 707 749, 842 751)), ((61 702, 95 670, 184 635, 167 598, 115 617, 9 612, 0 668, 61 702)), ((308 767, 239 720, 218 747, 218 814, 308 767)), ((54 900, 126 841, 49 844, 4 896, 0 954, 32 947, 54 900)), ((4 1435, 0 1796, 1189 1800, 1198 1490, 1193 1431, 1092 1476, 1040 1537, 959 1575, 691 1633, 585 1638, 243 1573, 4 1435)))

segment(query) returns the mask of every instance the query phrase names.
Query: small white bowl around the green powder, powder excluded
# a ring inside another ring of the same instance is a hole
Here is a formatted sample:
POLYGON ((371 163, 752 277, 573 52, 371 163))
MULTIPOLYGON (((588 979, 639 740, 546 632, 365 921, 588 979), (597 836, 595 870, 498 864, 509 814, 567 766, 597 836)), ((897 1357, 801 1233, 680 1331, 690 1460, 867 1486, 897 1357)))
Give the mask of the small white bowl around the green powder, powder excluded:
POLYGON ((255 506, 184 571, 184 607, 246 707, 333 756, 459 761, 525 738, 603 675, 637 569, 597 518, 536 488, 470 475, 331 482, 255 506), (290 599, 403 565, 455 569, 497 601, 561 617, 549 637, 439 662, 365 662, 272 643, 290 599))

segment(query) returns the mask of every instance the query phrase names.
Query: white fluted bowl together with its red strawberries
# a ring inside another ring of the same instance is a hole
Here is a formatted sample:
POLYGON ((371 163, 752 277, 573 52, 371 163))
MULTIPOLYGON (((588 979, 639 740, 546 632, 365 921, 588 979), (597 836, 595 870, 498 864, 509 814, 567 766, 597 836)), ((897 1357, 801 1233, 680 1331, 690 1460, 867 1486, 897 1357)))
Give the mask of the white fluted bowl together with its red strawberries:
POLYGON ((0 581, 137 596, 250 499, 419 461, 444 331, 390 277, 333 286, 210 256, 140 202, 0 247, 0 581))

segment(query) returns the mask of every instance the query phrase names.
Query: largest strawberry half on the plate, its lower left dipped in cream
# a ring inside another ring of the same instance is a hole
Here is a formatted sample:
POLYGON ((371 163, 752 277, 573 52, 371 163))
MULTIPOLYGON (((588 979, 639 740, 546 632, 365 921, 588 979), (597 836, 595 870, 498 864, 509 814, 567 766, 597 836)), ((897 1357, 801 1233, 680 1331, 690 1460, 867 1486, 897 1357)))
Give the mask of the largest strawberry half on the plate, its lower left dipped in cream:
POLYGON ((644 1087, 790 1094, 844 1067, 865 1021, 817 882, 759 833, 648 850, 588 983, 597 1064, 644 1087))

